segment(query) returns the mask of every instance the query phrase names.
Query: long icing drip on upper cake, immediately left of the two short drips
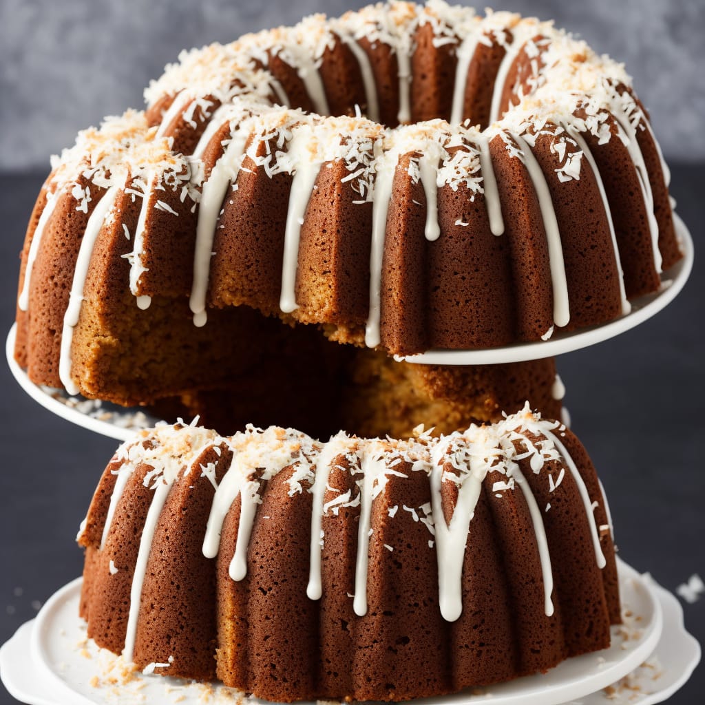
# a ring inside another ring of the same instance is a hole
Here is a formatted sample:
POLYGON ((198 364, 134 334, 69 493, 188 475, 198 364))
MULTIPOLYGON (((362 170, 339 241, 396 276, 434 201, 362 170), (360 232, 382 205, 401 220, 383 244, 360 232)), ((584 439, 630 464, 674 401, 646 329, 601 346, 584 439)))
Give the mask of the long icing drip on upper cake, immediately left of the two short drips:
MULTIPOLYGON (((375 145, 376 149, 376 145, 375 145)), ((369 252, 369 314, 364 331, 364 344, 376 348, 381 343, 380 302, 382 288, 382 255, 387 229, 387 214, 392 197, 392 184, 396 165, 379 165, 372 202, 372 245, 369 252)))

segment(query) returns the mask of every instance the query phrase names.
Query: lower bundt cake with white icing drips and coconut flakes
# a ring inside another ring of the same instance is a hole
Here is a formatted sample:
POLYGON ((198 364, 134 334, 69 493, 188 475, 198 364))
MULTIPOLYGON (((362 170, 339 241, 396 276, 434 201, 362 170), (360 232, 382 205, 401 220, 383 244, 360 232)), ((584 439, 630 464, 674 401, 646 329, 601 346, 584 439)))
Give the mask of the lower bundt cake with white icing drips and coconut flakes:
POLYGON ((410 440, 162 425, 100 480, 80 611, 139 668, 269 700, 445 694, 608 646, 608 516, 528 405, 410 440))

